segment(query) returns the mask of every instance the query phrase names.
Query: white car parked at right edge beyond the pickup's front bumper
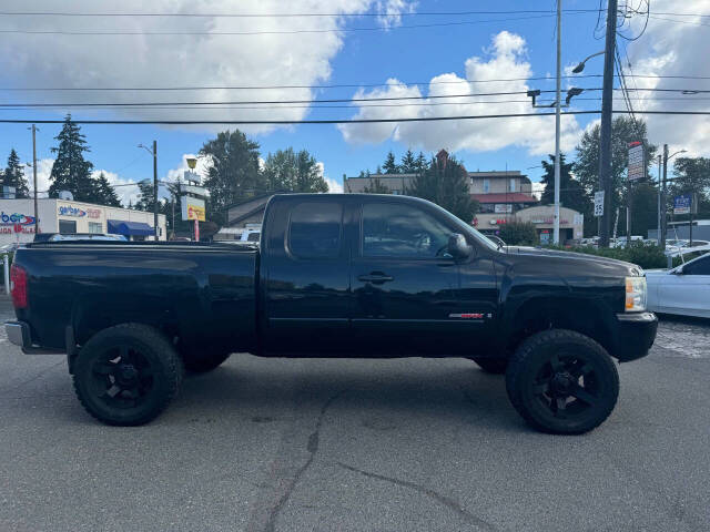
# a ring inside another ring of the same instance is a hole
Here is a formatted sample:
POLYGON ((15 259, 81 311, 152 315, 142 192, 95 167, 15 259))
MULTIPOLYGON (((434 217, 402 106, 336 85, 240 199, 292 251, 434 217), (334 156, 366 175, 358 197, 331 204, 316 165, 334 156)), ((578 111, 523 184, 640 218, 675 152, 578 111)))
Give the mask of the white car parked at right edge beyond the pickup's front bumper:
POLYGON ((710 318, 710 253, 673 269, 646 270, 649 310, 710 318))

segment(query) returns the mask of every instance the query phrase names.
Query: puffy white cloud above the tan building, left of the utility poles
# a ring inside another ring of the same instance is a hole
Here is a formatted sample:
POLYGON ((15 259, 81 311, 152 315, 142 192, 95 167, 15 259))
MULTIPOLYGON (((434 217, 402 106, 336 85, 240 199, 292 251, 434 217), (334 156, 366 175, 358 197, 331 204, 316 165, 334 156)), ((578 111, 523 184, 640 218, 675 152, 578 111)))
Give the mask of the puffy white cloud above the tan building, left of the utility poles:
MULTIPOLYGON (((530 78, 532 72, 527 61, 525 40, 515 33, 501 31, 494 35, 491 45, 484 51, 485 58, 473 57, 466 61, 466 76, 443 73, 429 82, 427 96, 458 95, 467 93, 494 93, 527 91, 525 81, 476 83, 466 79, 491 80, 530 78)), ((387 81, 384 89, 357 91, 355 98, 419 96, 417 86, 408 86, 396 79, 387 81)), ((398 102, 399 103, 399 102, 398 102)), ((473 116, 479 114, 529 113, 532 108, 525 95, 433 99, 404 101, 398 108, 358 105, 356 119, 384 119, 394 116, 473 116), (476 100, 487 103, 474 103, 476 100), (523 100, 511 103, 510 100, 523 100), (440 105, 443 102, 452 104, 440 105), (394 109, 394 111, 393 111, 394 109)), ((341 124, 345 141, 353 144, 379 143, 394 137, 403 144, 435 152, 440 147, 452 151, 495 151, 506 146, 520 146, 530 155, 551 153, 555 146, 555 117, 535 116, 518 119, 483 119, 436 122, 399 122, 376 124, 341 124)), ((571 150, 580 129, 574 116, 562 116, 561 147, 571 150)))

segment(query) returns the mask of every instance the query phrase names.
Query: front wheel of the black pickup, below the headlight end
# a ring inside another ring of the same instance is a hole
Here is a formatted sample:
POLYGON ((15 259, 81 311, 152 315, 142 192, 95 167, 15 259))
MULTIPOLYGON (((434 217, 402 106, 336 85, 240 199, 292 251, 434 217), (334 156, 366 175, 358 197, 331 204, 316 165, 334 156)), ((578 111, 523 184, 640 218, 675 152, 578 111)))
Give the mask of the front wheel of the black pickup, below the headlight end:
POLYGON ((619 374, 589 337, 550 329, 523 342, 510 359, 506 388, 515 409, 537 430, 581 434, 601 424, 619 396, 619 374))

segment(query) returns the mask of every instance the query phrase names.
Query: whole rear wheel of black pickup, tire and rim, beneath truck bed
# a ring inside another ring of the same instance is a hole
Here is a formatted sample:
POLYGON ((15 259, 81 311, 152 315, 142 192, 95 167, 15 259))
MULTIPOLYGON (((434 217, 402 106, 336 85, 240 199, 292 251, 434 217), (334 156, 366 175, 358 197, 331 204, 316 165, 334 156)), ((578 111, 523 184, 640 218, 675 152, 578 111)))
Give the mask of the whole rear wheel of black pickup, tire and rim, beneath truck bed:
POLYGON ((121 324, 97 332, 74 362, 74 390, 108 424, 138 426, 158 417, 178 393, 183 367, 156 329, 121 324))

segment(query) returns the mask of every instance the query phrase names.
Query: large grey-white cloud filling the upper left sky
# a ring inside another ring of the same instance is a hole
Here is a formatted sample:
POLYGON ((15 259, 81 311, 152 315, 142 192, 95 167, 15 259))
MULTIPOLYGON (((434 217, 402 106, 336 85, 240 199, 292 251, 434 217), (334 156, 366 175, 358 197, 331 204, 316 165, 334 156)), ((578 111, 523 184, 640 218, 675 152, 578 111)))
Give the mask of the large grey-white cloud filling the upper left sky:
MULTIPOLYGON (((361 14, 382 7, 389 13, 379 23, 398 23, 413 9, 405 0, 123 0, 124 12, 275 13, 323 12, 361 14)), ((27 10, 26 0, 4 0, 7 11, 27 10)), ((33 11, 52 11, 53 0, 32 2, 33 11)), ((97 11, 94 0, 73 0, 71 10, 97 11)), ((368 19, 369 20, 369 19, 368 19)), ((333 17, 176 18, 10 17, 3 30, 175 32, 173 35, 3 35, 0 64, 3 79, 18 86, 263 86, 311 85, 328 80, 331 61, 343 47, 345 20, 333 17), (298 34, 219 35, 215 32, 335 30, 298 34), (213 34, 189 34, 213 32, 213 34)), ((21 92, 22 101, 149 102, 310 100, 311 89, 258 89, 171 92, 21 92)), ((234 108, 234 106, 232 106, 234 108)), ((121 117, 162 120, 301 120, 308 109, 121 109, 121 117)), ((98 111, 97 111, 98 113, 98 111)), ((103 113, 102 113, 103 114, 103 113)), ((217 127, 217 126, 215 126, 217 127)), ((250 133, 273 126, 244 127, 250 133)))

